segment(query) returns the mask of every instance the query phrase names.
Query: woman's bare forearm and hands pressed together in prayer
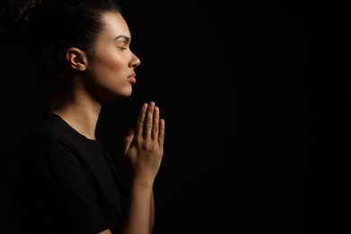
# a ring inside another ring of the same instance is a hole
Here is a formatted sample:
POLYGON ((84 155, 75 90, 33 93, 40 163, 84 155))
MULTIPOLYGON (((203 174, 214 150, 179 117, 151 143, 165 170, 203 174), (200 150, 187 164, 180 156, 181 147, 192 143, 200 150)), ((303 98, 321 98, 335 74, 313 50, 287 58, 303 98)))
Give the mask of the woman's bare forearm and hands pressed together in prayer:
MULTIPOLYGON (((153 184, 163 157, 165 121, 151 102, 139 112, 137 126, 124 139, 124 155, 130 169, 130 195, 121 234, 149 234, 154 227, 153 184)), ((109 230, 101 232, 111 233, 109 230)))

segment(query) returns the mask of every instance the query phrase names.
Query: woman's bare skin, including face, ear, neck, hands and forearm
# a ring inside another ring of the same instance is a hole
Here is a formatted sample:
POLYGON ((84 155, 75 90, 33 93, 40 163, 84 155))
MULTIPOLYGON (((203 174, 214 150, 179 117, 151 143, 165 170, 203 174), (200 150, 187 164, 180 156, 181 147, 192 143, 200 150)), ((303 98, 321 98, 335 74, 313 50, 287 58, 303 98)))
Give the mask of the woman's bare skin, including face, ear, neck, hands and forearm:
MULTIPOLYGON (((134 69, 140 64, 130 50, 130 30, 122 15, 105 13, 103 23, 91 58, 81 49, 67 49, 71 71, 49 110, 88 139, 95 139, 103 103, 130 96, 134 69)), ((144 103, 123 144, 130 170, 130 196, 122 234, 151 233, 153 229, 153 184, 163 157, 164 138, 165 121, 159 117, 159 108, 154 102, 144 103)))

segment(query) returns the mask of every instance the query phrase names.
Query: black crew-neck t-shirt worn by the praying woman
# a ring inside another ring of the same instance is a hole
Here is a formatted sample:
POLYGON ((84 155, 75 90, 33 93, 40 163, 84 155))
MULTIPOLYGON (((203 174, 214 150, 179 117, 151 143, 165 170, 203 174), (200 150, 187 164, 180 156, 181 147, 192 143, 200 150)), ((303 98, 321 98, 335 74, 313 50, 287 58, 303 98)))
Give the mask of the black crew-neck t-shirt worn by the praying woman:
POLYGON ((121 181, 100 139, 87 139, 46 113, 14 173, 18 233, 118 232, 125 209, 121 181))

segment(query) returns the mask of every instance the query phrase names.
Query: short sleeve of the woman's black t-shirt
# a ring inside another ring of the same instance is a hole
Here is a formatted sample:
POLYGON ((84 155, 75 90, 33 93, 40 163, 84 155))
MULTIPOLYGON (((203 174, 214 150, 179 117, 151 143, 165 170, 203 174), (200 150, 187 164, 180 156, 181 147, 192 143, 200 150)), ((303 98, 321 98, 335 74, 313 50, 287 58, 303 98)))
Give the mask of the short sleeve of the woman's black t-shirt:
POLYGON ((54 141, 31 165, 36 209, 49 233, 96 234, 109 228, 97 202, 94 176, 72 147, 54 141))

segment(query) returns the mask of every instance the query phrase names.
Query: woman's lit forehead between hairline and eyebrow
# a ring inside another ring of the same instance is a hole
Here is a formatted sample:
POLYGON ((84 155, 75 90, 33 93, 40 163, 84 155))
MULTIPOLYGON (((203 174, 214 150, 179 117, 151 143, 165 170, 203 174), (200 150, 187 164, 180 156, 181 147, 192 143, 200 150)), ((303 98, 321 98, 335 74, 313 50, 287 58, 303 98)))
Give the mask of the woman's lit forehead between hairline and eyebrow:
POLYGON ((120 13, 105 13, 103 14, 103 31, 101 35, 115 38, 124 35, 130 38, 130 30, 120 13))

